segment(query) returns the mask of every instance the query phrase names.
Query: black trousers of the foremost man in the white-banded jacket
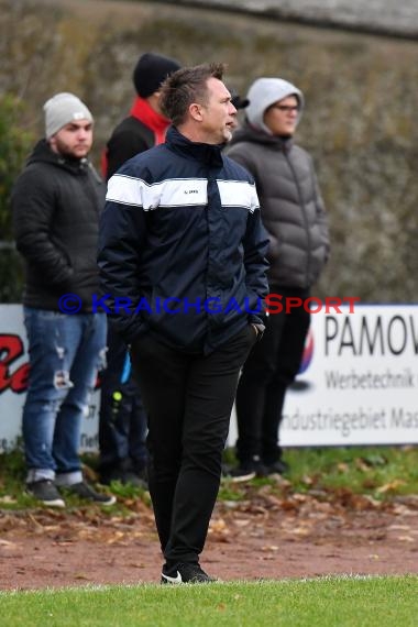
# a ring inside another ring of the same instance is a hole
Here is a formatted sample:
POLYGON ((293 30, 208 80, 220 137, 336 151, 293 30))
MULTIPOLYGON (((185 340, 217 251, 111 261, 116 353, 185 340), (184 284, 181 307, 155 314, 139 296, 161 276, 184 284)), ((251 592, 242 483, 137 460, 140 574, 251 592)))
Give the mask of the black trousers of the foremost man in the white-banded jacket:
POLYGON ((248 324, 209 355, 147 334, 132 363, 148 417, 148 485, 168 566, 198 562, 219 491, 240 369, 255 342, 248 324))

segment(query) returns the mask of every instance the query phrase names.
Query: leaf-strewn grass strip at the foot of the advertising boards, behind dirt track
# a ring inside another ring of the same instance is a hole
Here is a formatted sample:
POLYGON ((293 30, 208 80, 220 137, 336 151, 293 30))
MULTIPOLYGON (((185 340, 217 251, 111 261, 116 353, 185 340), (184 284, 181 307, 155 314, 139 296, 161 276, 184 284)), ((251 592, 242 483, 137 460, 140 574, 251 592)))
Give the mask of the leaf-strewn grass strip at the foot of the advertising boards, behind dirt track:
MULTIPOLYGON (((226 462, 234 463, 233 450, 224 454, 226 462)), ((346 447, 318 449, 289 449, 285 460, 290 471, 284 482, 253 480, 251 491, 271 484, 280 494, 312 493, 322 495, 338 492, 367 494, 375 499, 416 495, 418 485, 418 447, 346 447)), ((87 476, 95 481, 97 455, 84 455, 87 476)), ((0 454, 0 509, 28 509, 37 506, 24 494, 24 461, 21 450, 0 454)), ((241 501, 249 497, 249 485, 223 481, 219 498, 241 501)), ((118 504, 107 508, 108 514, 118 510, 129 514, 130 503, 141 498, 148 503, 148 495, 141 490, 119 483, 111 485, 118 504)), ((79 506, 76 497, 68 505, 79 506)), ((103 514, 106 515, 106 514, 103 514)))

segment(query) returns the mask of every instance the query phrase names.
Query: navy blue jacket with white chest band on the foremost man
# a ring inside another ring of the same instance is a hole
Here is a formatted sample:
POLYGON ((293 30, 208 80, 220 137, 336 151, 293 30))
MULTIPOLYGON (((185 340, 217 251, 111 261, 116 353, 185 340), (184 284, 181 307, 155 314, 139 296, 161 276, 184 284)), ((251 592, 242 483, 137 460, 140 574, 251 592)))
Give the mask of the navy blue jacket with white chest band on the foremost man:
POLYGON ((172 127, 165 144, 109 180, 98 257, 103 302, 128 342, 151 332, 207 354, 261 321, 267 246, 251 175, 220 146, 172 127))

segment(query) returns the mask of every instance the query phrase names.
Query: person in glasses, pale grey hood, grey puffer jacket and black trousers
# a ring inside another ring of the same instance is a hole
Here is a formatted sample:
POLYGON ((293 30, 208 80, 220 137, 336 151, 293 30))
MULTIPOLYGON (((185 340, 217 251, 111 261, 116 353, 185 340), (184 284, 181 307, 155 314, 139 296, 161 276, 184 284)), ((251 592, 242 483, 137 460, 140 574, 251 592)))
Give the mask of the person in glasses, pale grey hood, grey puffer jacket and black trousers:
MULTIPOLYGON (((329 256, 328 221, 310 155, 294 143, 305 99, 282 78, 258 78, 246 118, 227 148, 254 177, 270 237, 271 293, 306 299, 329 256)), ((310 315, 304 307, 271 315, 237 392, 237 480, 287 470, 278 430, 288 386, 299 370, 310 315)))

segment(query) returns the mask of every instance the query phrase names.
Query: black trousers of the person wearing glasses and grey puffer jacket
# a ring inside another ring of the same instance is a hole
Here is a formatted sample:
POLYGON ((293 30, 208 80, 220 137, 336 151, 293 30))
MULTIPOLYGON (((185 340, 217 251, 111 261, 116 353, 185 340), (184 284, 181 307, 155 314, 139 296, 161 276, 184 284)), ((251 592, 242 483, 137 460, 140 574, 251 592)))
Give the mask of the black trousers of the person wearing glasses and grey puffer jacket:
MULTIPOLYGON (((302 299, 309 296, 301 289, 272 287, 271 292, 302 299)), ((310 314, 302 307, 268 316, 264 336, 244 364, 235 399, 237 457, 241 464, 255 457, 270 465, 280 458, 283 406, 299 370, 309 323, 310 314)))

